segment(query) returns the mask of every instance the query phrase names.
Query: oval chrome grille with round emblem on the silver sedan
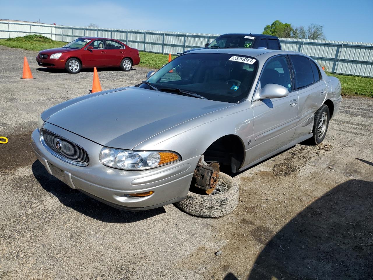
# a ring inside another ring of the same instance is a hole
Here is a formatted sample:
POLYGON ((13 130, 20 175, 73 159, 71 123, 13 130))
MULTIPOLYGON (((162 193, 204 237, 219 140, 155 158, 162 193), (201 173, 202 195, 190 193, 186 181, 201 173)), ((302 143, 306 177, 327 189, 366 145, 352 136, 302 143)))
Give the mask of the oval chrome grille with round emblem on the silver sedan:
POLYGON ((81 146, 46 129, 40 131, 40 136, 44 147, 57 158, 78 166, 88 165, 88 153, 81 146))

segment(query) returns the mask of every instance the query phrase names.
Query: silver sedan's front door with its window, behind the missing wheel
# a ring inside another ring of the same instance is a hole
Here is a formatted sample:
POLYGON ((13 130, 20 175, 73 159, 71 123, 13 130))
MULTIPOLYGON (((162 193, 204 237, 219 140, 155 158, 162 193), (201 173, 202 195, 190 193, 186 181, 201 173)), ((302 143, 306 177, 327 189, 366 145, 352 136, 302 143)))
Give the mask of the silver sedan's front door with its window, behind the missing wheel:
POLYGON ((293 89, 289 62, 285 55, 269 59, 261 72, 257 92, 266 84, 279 84, 289 90, 289 95, 281 98, 256 100, 252 102, 254 113, 253 147, 250 161, 290 143, 294 136, 298 119, 298 93, 293 89))

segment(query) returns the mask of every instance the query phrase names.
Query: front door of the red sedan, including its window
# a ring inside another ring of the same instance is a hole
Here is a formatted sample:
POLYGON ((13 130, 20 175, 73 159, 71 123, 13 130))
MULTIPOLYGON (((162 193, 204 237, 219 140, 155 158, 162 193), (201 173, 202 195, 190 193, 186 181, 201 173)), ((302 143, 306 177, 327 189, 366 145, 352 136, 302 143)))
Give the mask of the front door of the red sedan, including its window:
POLYGON ((106 49, 105 40, 95 40, 88 46, 92 46, 93 49, 87 50, 87 47, 82 53, 82 63, 83 66, 87 67, 100 67, 106 66, 106 49))

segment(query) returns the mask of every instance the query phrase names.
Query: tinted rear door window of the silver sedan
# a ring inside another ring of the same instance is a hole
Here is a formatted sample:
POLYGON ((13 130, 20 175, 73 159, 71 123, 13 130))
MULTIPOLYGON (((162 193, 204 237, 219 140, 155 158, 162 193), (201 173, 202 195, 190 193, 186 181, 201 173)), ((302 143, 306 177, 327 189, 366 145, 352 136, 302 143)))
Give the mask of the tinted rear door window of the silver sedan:
POLYGON ((306 87, 314 82, 310 60, 305 56, 290 55, 295 74, 295 87, 306 87))

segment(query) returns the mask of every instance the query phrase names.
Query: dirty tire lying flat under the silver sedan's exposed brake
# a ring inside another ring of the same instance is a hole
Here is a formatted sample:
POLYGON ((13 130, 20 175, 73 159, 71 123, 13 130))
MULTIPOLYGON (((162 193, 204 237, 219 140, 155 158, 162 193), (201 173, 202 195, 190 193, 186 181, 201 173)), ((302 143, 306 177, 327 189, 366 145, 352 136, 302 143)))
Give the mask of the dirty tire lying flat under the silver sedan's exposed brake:
POLYGON ((220 172, 219 180, 224 180, 228 190, 219 195, 198 195, 188 192, 186 198, 176 202, 182 211, 197 217, 220 217, 231 213, 238 204, 239 187, 231 176, 220 172))

